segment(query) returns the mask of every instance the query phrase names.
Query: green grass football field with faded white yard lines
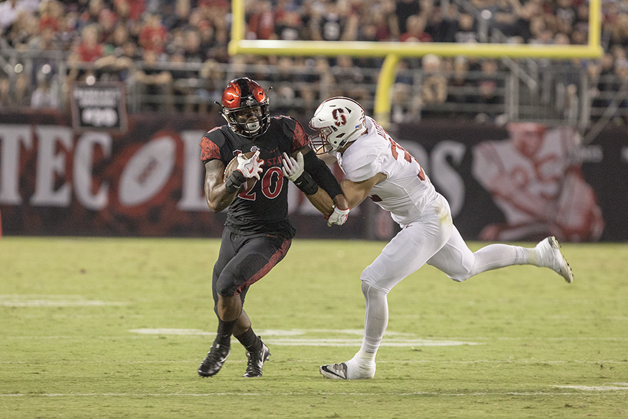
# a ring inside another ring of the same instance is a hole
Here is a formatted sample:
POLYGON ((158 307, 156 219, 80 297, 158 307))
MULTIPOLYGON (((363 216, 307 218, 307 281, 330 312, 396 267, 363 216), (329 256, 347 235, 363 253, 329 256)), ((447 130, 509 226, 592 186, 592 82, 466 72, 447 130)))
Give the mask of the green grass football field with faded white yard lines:
MULTIPOLYGON (((216 330, 217 240, 0 240, 0 418, 627 418, 628 246, 564 244, 574 284, 432 267, 389 294, 370 381, 319 365, 359 348, 359 273, 382 242, 294 240, 248 294, 271 349, 241 378, 196 369, 216 330)), ((477 249, 479 244, 472 244, 477 249)))

